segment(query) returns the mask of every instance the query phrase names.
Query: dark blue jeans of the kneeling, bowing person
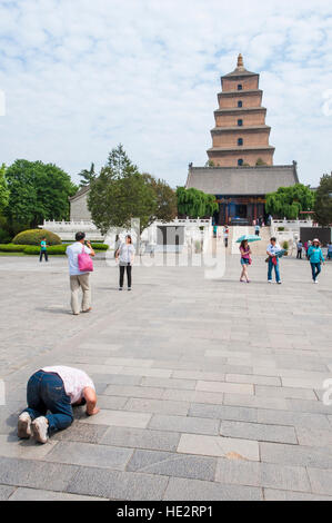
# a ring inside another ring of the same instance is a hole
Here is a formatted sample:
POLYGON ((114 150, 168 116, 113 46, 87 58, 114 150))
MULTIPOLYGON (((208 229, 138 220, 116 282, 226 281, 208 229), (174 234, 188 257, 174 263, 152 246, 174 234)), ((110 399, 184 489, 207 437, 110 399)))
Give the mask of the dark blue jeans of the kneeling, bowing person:
POLYGON ((63 431, 73 422, 70 396, 66 394, 63 382, 58 374, 38 371, 27 385, 27 412, 31 420, 46 416, 49 435, 63 431), (49 414, 47 412, 49 411, 49 414))

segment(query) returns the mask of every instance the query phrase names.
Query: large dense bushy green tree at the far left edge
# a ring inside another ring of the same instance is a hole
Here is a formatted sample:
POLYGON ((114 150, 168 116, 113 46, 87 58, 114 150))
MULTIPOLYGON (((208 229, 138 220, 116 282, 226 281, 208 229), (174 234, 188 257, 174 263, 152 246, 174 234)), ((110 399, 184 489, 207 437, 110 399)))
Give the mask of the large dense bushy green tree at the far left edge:
POLYGON ((29 227, 44 219, 68 219, 68 197, 77 191, 70 176, 53 164, 16 160, 6 171, 10 191, 6 215, 10 224, 29 227))

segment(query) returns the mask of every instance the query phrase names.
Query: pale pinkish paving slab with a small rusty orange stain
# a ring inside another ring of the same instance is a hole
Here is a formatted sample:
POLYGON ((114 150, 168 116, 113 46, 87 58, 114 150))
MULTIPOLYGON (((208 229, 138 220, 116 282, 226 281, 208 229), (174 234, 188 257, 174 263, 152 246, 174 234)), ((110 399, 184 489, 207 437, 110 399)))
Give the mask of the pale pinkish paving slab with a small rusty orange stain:
POLYGON ((260 460, 258 442, 223 436, 182 434, 178 452, 220 457, 232 456, 235 453, 243 460, 260 460))

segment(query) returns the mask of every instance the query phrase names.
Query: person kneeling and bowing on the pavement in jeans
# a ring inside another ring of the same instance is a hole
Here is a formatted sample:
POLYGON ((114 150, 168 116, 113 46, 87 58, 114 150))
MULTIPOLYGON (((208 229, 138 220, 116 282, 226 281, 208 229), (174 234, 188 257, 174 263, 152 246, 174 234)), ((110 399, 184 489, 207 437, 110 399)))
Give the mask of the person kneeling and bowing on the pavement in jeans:
POLYGON ((72 424, 73 406, 87 405, 88 416, 99 413, 92 379, 83 371, 66 366, 43 367, 32 374, 27 403, 18 420, 18 436, 32 436, 40 443, 72 424))

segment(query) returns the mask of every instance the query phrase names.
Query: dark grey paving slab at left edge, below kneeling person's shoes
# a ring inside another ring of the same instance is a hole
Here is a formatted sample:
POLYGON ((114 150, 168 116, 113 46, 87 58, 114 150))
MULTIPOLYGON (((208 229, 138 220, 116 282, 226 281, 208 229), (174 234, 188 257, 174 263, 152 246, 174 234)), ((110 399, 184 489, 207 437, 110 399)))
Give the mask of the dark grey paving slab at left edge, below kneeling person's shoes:
POLYGON ((1 484, 64 491, 76 472, 73 465, 0 457, 1 484))

